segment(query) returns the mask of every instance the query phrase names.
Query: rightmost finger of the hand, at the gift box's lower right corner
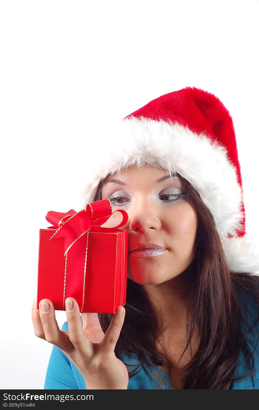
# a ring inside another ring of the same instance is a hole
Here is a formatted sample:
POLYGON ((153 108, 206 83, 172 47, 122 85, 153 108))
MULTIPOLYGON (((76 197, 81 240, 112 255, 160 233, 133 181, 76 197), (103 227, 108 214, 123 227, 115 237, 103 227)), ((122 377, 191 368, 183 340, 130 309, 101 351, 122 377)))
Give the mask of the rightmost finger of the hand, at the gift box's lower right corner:
POLYGON ((114 351, 116 343, 120 336, 120 331, 123 326, 124 318, 125 308, 123 306, 118 306, 116 313, 113 315, 111 319, 110 326, 105 333, 105 337, 101 342, 103 353, 111 353, 114 351))

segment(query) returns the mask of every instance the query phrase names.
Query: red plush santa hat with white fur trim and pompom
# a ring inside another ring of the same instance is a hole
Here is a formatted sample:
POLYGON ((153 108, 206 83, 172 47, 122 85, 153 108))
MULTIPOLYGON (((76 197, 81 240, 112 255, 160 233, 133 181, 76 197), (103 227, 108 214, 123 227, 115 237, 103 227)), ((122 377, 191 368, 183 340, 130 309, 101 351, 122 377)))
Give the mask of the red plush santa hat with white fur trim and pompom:
POLYGON ((164 94, 116 123, 107 138, 112 143, 81 191, 84 207, 108 174, 157 164, 189 181, 209 208, 229 270, 259 273, 258 244, 245 232, 232 117, 216 96, 195 87, 164 94))

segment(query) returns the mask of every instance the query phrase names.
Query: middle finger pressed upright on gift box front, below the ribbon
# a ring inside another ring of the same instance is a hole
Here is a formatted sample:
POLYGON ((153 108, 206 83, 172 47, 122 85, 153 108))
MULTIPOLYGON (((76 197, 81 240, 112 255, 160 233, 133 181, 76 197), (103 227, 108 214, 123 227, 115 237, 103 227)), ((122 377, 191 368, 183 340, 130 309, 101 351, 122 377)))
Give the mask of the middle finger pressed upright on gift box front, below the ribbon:
POLYGON ((91 343, 84 335, 80 310, 74 298, 66 298, 66 317, 68 319, 68 334, 73 346, 82 355, 91 354, 91 343))

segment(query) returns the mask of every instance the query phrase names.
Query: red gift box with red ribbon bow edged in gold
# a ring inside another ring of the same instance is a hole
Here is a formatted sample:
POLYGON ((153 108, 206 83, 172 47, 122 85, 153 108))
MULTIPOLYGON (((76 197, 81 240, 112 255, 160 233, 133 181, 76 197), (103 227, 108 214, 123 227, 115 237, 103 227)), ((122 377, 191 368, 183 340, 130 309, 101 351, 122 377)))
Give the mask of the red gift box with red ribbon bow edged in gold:
POLYGON ((112 212, 108 199, 86 205, 86 210, 46 214, 52 226, 39 231, 37 308, 43 298, 55 310, 65 310, 65 299, 76 299, 80 312, 115 313, 126 303, 128 230, 119 229, 127 212, 112 212), (102 228, 112 214, 123 219, 102 228))

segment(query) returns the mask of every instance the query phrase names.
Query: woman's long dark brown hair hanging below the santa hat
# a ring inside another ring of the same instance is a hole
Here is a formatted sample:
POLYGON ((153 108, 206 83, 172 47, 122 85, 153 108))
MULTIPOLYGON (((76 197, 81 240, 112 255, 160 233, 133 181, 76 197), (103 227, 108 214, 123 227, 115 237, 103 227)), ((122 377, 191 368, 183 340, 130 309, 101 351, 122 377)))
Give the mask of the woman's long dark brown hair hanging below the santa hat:
MULTIPOLYGON (((198 350, 191 361, 182 367, 186 375, 184 389, 229 389, 232 381, 248 378, 254 372, 253 353, 257 346, 251 340, 258 342, 256 325, 259 317, 254 317, 252 310, 246 305, 243 292, 253 298, 255 305, 258 304, 259 276, 229 271, 213 216, 197 191, 188 181, 184 181, 199 219, 195 257, 186 271, 181 273, 189 283, 189 296, 186 314, 187 343, 179 360, 191 346, 195 329, 198 329, 200 335, 198 350), (249 361, 249 371, 234 378, 241 350, 244 358, 249 361)), ((102 183, 103 181, 99 184, 95 200, 101 199, 102 183)), ((146 355, 155 365, 165 365, 170 372, 166 355, 161 355, 154 348, 155 342, 159 342, 159 323, 140 286, 129 278, 125 309, 125 320, 115 354, 121 360, 122 353, 137 355, 138 365, 132 368, 132 365, 125 363, 129 377, 138 372, 142 363, 150 364, 146 355)), ((98 313, 98 317, 102 330, 106 332, 112 314, 98 313)))

